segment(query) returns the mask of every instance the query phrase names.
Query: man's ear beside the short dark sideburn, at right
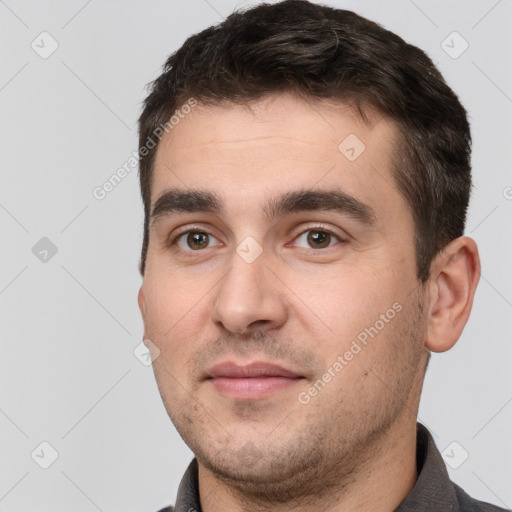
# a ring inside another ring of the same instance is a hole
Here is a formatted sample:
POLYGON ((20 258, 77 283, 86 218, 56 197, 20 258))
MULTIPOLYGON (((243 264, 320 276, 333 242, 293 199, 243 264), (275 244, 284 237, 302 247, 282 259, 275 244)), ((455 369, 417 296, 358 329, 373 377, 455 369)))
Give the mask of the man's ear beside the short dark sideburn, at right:
POLYGON ((469 318, 480 279, 480 257, 472 238, 452 240, 430 267, 429 317, 425 346, 444 352, 455 345, 469 318))

